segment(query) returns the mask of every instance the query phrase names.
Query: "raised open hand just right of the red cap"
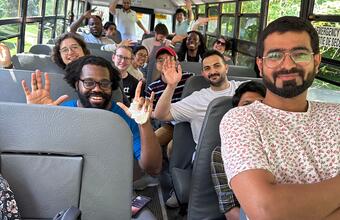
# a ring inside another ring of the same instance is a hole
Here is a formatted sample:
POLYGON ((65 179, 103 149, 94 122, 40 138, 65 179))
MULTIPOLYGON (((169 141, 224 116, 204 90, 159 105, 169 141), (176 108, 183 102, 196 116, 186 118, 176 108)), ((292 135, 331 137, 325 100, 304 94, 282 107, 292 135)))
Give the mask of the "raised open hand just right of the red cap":
POLYGON ((178 65, 176 68, 176 61, 167 57, 162 66, 166 83, 171 86, 177 86, 182 79, 182 67, 178 65))

